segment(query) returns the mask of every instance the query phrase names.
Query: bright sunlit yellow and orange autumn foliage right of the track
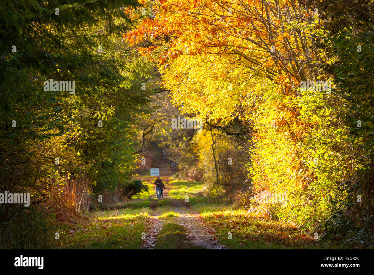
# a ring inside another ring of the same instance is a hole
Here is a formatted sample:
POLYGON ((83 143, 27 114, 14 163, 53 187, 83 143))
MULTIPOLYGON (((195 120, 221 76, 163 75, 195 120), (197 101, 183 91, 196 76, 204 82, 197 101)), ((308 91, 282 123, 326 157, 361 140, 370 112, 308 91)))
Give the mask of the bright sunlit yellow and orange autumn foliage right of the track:
POLYGON ((249 146, 251 209, 319 230, 348 199, 341 183, 372 159, 346 150, 354 142, 344 118, 349 98, 336 92, 334 72, 326 70, 338 56, 321 47, 329 39, 328 18, 320 18, 326 6, 293 0, 142 4, 144 16, 134 17, 137 28, 124 34, 125 42, 158 63, 183 113, 223 134, 240 121, 249 146), (288 205, 258 204, 263 192, 288 193, 288 205))

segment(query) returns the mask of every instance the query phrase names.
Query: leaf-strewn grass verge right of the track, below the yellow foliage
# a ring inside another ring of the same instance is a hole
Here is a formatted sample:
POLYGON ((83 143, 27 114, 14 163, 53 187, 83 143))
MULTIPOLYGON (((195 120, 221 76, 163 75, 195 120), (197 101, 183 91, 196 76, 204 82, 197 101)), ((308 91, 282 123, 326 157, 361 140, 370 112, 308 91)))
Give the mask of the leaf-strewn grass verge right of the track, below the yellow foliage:
POLYGON ((279 223, 227 205, 197 205, 203 220, 214 227, 221 244, 230 249, 324 249, 292 224, 279 223), (231 233, 232 239, 229 239, 231 233))

